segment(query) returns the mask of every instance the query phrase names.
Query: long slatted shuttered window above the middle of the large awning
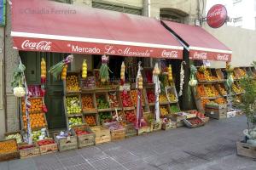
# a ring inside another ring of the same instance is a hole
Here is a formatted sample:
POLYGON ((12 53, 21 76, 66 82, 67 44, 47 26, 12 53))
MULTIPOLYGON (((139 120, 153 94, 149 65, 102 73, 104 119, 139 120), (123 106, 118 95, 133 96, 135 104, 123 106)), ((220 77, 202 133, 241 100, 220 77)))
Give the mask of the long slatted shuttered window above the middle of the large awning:
POLYGON ((93 8, 102 8, 107 10, 113 10, 118 11, 121 13, 127 13, 127 14, 137 14, 137 15, 143 15, 143 9, 142 8, 133 8, 133 7, 127 7, 127 6, 121 6, 119 4, 110 4, 110 3, 101 3, 101 2, 92 2, 93 8))

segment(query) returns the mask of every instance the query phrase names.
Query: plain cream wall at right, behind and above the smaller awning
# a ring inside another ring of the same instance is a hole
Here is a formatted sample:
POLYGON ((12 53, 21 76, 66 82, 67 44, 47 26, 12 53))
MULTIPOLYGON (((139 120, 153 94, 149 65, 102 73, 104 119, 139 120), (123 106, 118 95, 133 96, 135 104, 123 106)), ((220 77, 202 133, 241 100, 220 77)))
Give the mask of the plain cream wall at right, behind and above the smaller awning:
MULTIPOLYGON (((256 60, 256 31, 250 31, 234 26, 222 26, 212 29, 207 24, 203 26, 214 37, 232 49, 231 65, 249 66, 256 60)), ((212 62, 212 67, 224 67, 224 62, 212 62)))

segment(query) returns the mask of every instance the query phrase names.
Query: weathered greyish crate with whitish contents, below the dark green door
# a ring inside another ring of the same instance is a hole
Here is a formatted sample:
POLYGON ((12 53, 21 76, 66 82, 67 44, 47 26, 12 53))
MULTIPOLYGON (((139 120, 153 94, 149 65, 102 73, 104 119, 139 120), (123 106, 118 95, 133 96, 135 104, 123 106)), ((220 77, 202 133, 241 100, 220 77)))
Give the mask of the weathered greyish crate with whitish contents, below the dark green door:
POLYGON ((54 133, 54 139, 60 151, 78 149, 78 139, 73 129, 65 133, 54 133))

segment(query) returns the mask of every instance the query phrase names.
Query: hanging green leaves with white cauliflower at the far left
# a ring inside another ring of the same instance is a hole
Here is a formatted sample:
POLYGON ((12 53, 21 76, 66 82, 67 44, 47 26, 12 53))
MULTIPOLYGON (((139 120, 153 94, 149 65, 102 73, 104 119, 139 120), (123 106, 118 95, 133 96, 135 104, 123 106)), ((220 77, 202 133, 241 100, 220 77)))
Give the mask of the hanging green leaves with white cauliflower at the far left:
POLYGON ((25 65, 23 65, 20 61, 20 64, 18 68, 14 71, 13 75, 13 82, 11 82, 11 86, 14 90, 14 94, 16 97, 24 97, 26 94, 26 90, 24 88, 24 77, 23 77, 23 72, 26 70, 25 65))

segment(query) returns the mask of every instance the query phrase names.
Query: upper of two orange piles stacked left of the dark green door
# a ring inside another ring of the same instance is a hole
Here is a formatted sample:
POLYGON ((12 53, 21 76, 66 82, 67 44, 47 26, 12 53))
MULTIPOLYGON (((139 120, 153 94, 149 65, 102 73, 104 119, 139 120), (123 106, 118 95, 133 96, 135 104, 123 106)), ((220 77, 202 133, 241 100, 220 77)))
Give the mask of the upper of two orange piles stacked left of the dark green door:
MULTIPOLYGON (((38 113, 41 112, 43 109, 43 100, 41 98, 32 98, 30 99, 31 108, 28 110, 30 113, 38 113)), ((26 113, 26 105, 25 101, 22 100, 22 113, 26 113)))

